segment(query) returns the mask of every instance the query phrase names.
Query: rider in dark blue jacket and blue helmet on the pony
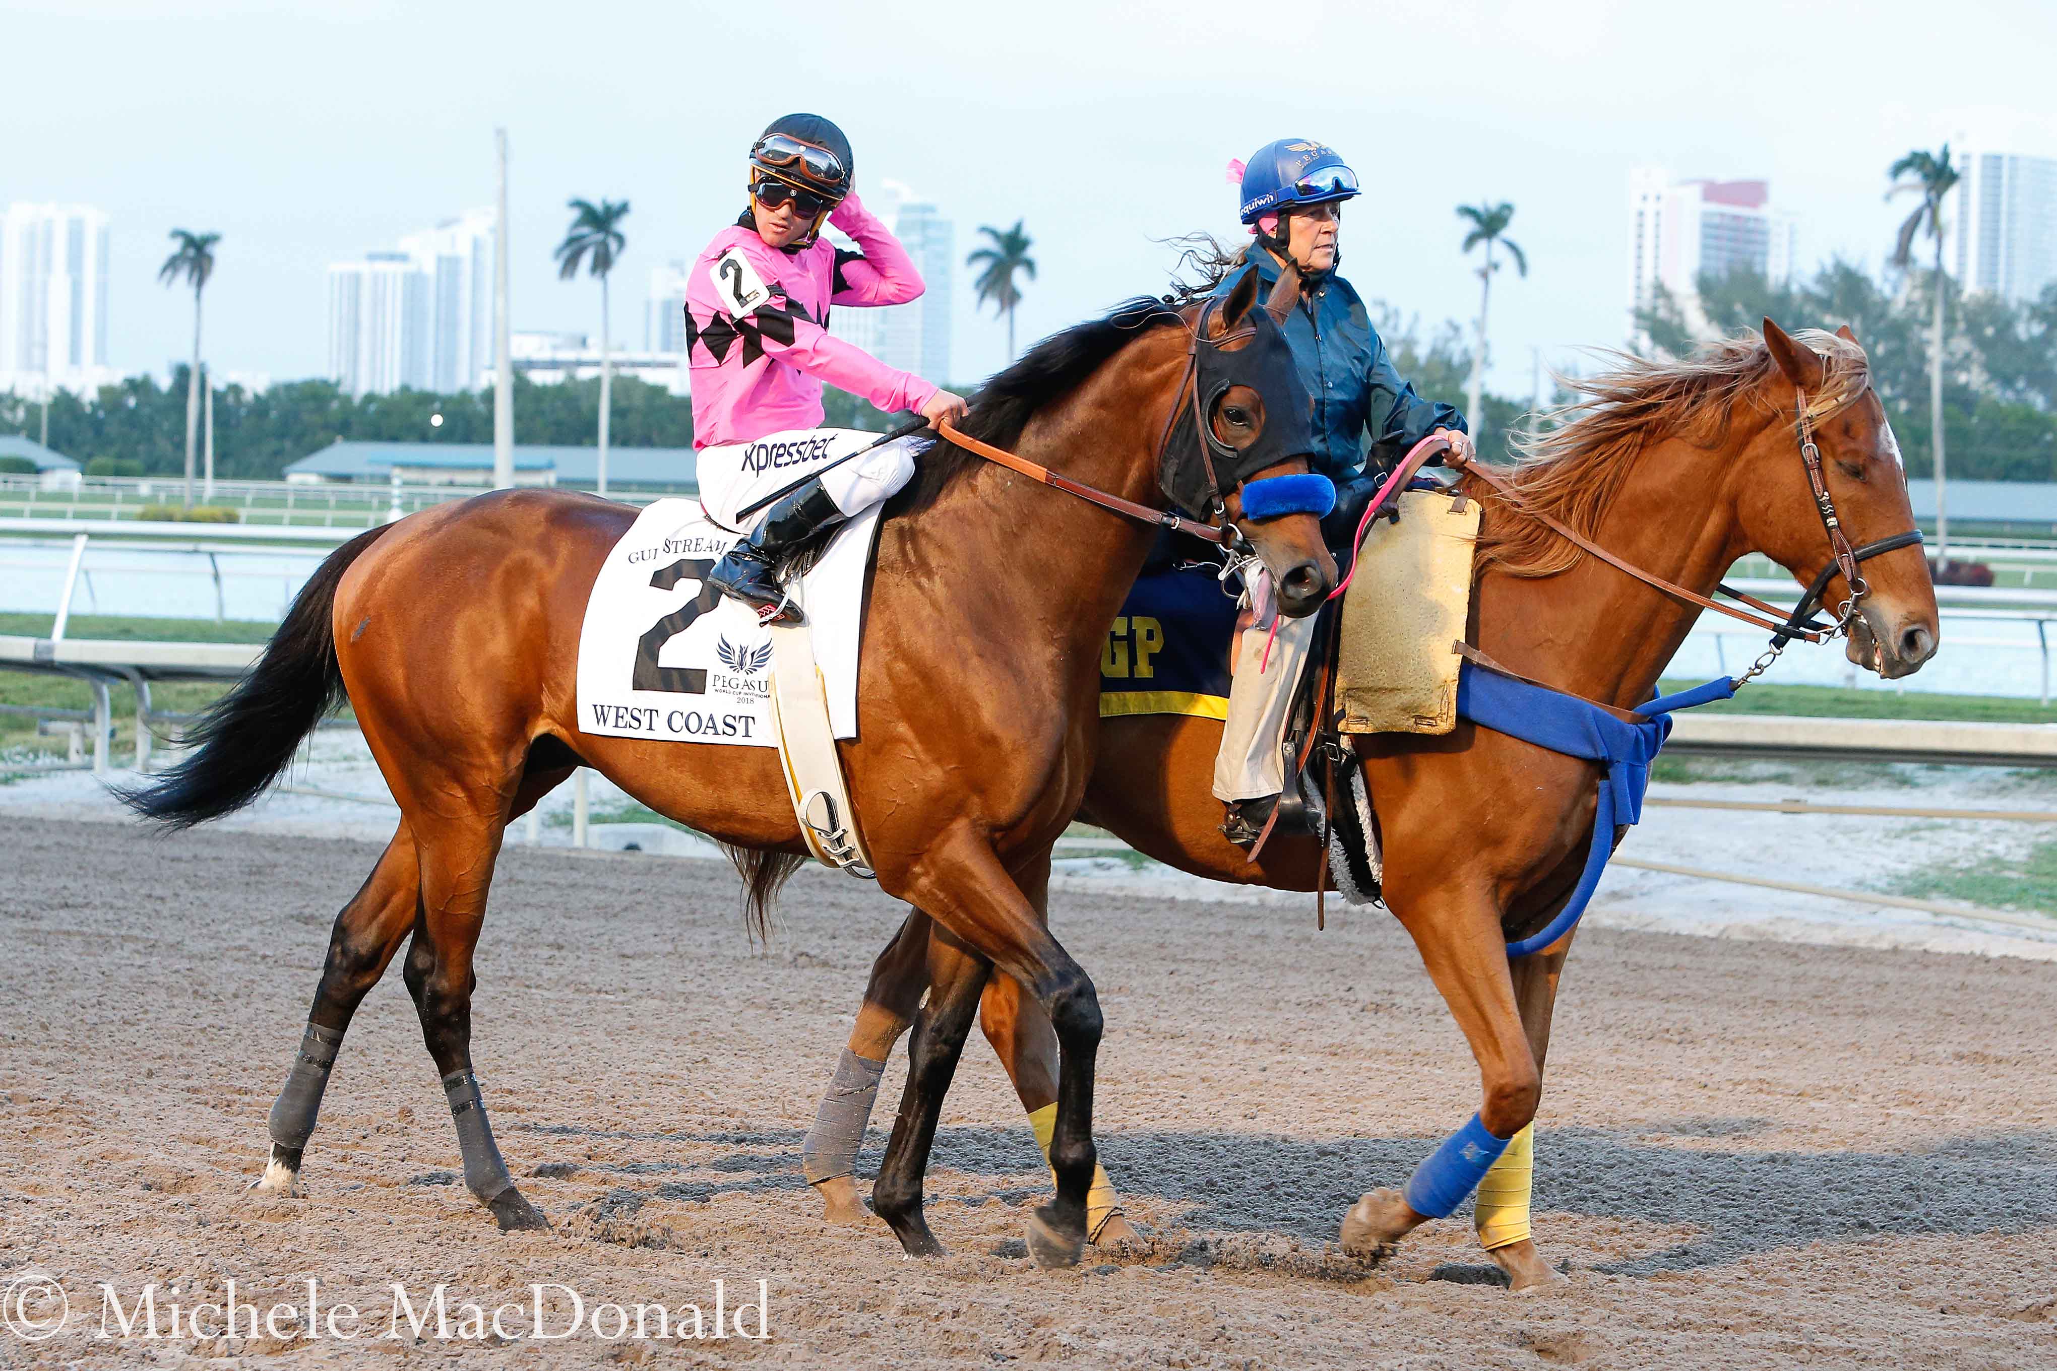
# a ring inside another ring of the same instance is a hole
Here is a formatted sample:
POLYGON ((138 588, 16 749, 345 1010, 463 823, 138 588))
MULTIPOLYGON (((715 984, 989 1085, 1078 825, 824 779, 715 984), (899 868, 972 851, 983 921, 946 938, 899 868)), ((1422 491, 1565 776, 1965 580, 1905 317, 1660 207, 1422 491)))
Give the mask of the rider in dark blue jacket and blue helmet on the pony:
MULTIPOLYGON (((1366 460, 1393 467, 1438 432, 1469 446, 1465 415, 1421 399, 1401 380, 1364 300, 1335 275, 1343 201, 1358 195, 1356 173, 1333 148, 1304 138, 1265 144, 1244 166, 1230 166, 1232 177, 1238 171, 1242 222, 1255 240, 1230 261, 1214 294, 1228 296, 1255 271, 1265 298, 1286 261, 1300 267, 1300 308, 1288 317, 1286 341, 1314 397, 1312 469, 1333 479, 1347 504, 1351 483, 1368 485, 1366 460)), ((1214 769, 1214 795, 1228 806, 1222 832, 1232 843, 1257 841, 1286 787, 1282 740, 1312 633, 1314 617, 1279 619, 1275 639, 1271 625, 1244 629, 1214 769)))

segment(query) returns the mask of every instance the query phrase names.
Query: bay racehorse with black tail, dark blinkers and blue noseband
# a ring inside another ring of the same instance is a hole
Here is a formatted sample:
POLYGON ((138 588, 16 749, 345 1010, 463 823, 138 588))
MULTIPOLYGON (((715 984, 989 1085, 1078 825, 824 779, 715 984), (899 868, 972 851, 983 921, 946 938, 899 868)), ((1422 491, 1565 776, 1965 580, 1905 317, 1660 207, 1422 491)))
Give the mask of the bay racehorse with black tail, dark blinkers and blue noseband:
MULTIPOLYGON (((1059 333, 987 384, 965 430, 1131 502, 1160 485, 1205 491, 1193 512, 1232 520, 1240 483, 1302 473, 1308 450, 1308 395, 1275 317, 1253 304, 1255 292, 1218 310, 1138 302, 1059 333)), ((1047 867, 1078 810, 1100 639, 1154 532, 946 442, 922 467, 880 528, 862 738, 841 754, 880 888, 928 911, 938 946, 1026 987, 1061 1044, 1057 1198, 1031 1217, 1028 1246, 1039 1262, 1066 1264, 1086 1235, 1100 1009, 1018 874, 1047 867)), ((471 1075, 473 950, 502 830, 576 765, 741 849, 759 923, 804 859, 773 748, 580 732, 586 596, 634 518, 590 495, 502 491, 346 543, 255 672, 204 719, 200 750, 130 798, 171 826, 247 804, 348 693, 399 802, 399 830, 335 919, 261 1188, 298 1182, 341 1034, 411 931, 405 983, 450 1098, 465 1184, 502 1227, 545 1225, 500 1159, 471 1075)), ((1335 561, 1312 514, 1253 524, 1249 543, 1288 613, 1327 598, 1335 561)), ((917 1085, 948 1075, 975 1011, 977 989, 932 1001, 911 1048, 917 1085)), ((934 1110, 903 1110, 874 1192, 909 1246, 926 1233, 919 1163, 934 1126, 934 1110)))

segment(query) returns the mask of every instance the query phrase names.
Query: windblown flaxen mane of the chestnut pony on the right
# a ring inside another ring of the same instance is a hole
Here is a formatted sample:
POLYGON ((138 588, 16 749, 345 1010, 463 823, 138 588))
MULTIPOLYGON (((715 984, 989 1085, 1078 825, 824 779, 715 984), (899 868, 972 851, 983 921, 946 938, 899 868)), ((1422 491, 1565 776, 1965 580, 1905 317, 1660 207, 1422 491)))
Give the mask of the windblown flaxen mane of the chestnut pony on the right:
MULTIPOLYGON (((1823 384, 1808 395, 1810 419, 1827 419, 1864 395, 1870 370, 1862 347, 1818 329, 1802 329, 1794 341, 1823 360, 1823 384)), ((1609 370, 1563 378, 1580 399, 1510 438, 1516 508, 1549 514, 1586 536, 1621 493, 1644 448, 1666 438, 1718 446, 1742 405, 1767 415, 1773 411, 1765 382, 1777 372, 1759 333, 1724 337, 1676 362, 1619 351, 1604 356, 1609 370)), ((1500 499, 1483 483, 1471 485, 1477 495, 1500 499)), ((1479 532, 1481 571, 1557 576, 1578 565, 1580 557, 1578 547, 1530 518, 1489 520, 1479 532)))

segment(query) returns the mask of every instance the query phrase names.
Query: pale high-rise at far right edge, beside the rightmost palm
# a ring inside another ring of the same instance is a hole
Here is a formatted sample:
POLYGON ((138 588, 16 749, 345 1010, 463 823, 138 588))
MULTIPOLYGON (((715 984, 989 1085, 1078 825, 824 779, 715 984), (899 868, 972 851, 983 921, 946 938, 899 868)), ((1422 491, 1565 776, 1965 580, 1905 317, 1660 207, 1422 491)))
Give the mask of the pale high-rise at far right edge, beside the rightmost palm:
POLYGON ((1966 294, 2014 304, 2057 282, 2057 158, 1971 150, 1944 214, 1954 265, 1966 294))

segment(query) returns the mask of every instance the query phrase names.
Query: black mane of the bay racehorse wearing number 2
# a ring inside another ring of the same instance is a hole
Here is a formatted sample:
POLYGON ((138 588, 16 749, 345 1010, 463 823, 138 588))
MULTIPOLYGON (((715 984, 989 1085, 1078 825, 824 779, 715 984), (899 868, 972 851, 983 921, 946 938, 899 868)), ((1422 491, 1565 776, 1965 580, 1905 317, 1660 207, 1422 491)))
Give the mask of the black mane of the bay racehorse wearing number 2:
MULTIPOLYGON (((996 448, 1012 448, 1037 411, 1076 391, 1086 376, 1100 370, 1109 358, 1142 333, 1175 323, 1181 323, 1175 308, 1162 300, 1138 296, 1123 300, 1100 319, 1051 333, 979 386, 971 401, 971 413, 957 428, 996 448)), ((926 508, 967 471, 985 467, 985 458, 965 452, 954 442, 938 440, 922 454, 919 467, 919 475, 895 497, 889 512, 903 514, 926 508)))

